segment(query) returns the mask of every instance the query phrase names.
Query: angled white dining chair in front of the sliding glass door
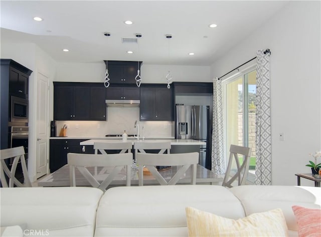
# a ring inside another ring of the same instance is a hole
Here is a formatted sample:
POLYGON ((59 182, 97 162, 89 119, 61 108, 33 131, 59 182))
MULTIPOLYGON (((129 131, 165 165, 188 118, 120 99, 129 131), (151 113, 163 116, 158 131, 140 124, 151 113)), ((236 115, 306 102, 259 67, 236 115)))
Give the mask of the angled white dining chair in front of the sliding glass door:
POLYGON ((246 177, 249 171, 250 155, 251 155, 251 148, 249 147, 236 146, 236 145, 230 146, 230 157, 229 157, 229 162, 225 172, 225 176, 222 182, 222 186, 233 187, 233 185, 239 186, 239 185, 245 184, 246 177), (242 164, 240 163, 239 155, 243 156, 241 158, 243 160, 242 164), (233 167, 232 163, 235 163, 236 167, 233 167))

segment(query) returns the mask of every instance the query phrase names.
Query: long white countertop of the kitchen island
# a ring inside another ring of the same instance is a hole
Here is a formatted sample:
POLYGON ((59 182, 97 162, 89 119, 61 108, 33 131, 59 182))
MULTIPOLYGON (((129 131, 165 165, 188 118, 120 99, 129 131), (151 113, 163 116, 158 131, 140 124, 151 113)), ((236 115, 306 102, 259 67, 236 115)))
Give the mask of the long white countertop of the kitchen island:
MULTIPOLYGON (((82 146, 93 146, 95 142, 123 142, 122 139, 90 139, 80 142, 82 146)), ((204 141, 198 141, 193 139, 128 139, 126 142, 171 142, 171 145, 206 145, 204 141)))

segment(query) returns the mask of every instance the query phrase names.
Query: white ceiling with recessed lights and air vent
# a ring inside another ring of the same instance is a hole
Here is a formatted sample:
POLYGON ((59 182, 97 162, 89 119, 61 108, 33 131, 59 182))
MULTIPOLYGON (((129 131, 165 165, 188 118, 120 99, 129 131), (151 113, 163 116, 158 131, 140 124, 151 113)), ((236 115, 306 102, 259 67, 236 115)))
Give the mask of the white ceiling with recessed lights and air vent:
POLYGON ((139 60, 208 66, 287 3, 2 0, 1 41, 35 43, 57 62, 139 60), (36 16, 44 20, 36 22, 36 16), (126 20, 133 24, 125 25, 126 20), (210 24, 217 27, 209 28, 210 24), (142 37, 136 38, 135 33, 142 37), (173 38, 167 39, 166 34, 173 38), (137 43, 124 44, 121 38, 137 39, 137 43))

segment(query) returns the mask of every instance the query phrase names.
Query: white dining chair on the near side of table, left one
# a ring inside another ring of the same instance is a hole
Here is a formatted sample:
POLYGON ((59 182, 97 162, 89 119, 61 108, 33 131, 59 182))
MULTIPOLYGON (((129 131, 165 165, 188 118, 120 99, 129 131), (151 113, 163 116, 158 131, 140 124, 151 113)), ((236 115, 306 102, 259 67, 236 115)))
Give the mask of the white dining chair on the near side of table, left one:
POLYGON ((107 186, 112 182, 115 176, 120 173, 121 169, 125 167, 126 186, 130 186, 132 153, 106 155, 68 153, 67 159, 70 172, 70 186, 76 186, 76 167, 79 172, 88 180, 90 185, 103 191, 106 190, 107 186), (97 166, 112 167, 111 172, 109 172, 109 174, 101 183, 87 169, 87 167, 97 166))

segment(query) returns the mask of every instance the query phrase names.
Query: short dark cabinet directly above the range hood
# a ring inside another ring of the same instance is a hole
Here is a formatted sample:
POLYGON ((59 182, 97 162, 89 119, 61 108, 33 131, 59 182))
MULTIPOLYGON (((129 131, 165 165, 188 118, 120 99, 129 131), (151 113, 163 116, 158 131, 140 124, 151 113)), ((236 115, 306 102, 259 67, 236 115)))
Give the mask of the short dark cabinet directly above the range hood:
POLYGON ((137 86, 110 86, 106 89, 107 100, 139 100, 139 88, 137 86))

